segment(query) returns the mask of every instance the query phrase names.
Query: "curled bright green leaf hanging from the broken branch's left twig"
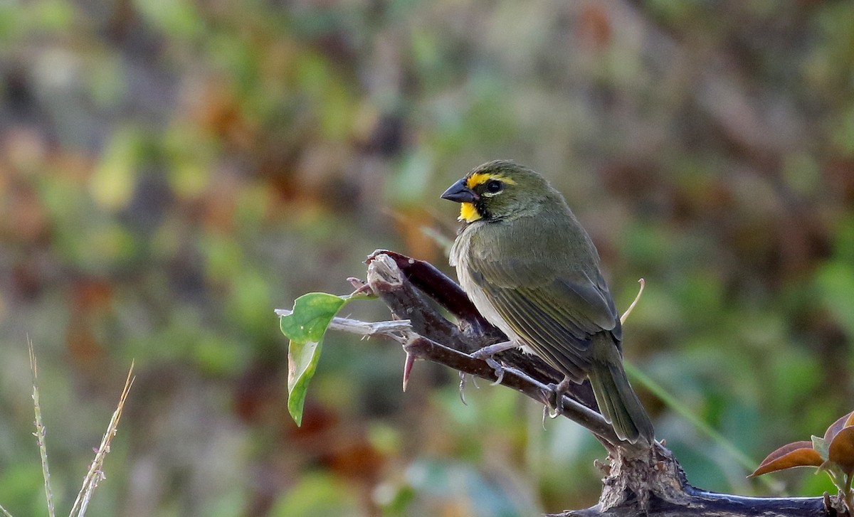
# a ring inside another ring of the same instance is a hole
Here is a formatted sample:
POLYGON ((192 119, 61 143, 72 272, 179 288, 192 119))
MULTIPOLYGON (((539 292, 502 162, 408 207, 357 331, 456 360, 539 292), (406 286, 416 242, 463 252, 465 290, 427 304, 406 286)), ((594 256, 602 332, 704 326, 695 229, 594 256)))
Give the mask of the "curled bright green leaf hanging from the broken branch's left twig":
POLYGON ((349 296, 328 293, 303 294, 294 302, 294 311, 279 318, 279 328, 290 338, 288 346, 288 411, 296 425, 302 423, 308 382, 317 369, 323 334, 349 296))

